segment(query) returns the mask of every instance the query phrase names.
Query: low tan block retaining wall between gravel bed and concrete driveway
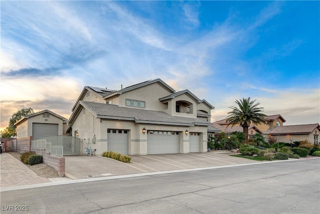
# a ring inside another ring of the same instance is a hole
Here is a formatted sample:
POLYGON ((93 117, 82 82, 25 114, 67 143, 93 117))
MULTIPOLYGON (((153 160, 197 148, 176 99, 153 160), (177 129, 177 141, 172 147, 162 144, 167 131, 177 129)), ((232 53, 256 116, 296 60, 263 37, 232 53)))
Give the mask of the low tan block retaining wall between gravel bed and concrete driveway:
POLYGON ((44 148, 31 148, 36 154, 42 155, 43 163, 52 166, 60 177, 65 175, 65 158, 50 155, 44 148))

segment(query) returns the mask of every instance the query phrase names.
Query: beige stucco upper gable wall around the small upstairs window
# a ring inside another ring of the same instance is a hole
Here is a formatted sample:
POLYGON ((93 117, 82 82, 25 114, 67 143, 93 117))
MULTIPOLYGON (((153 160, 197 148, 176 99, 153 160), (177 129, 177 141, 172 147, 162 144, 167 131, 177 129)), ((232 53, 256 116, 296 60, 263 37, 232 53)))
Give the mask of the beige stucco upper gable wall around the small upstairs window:
POLYGON ((137 100, 145 102, 145 108, 143 109, 162 111, 166 108, 166 105, 162 104, 159 101, 159 98, 164 97, 168 94, 169 92, 166 89, 164 89, 159 84, 154 83, 121 94, 118 97, 118 105, 125 106, 125 99, 137 100))

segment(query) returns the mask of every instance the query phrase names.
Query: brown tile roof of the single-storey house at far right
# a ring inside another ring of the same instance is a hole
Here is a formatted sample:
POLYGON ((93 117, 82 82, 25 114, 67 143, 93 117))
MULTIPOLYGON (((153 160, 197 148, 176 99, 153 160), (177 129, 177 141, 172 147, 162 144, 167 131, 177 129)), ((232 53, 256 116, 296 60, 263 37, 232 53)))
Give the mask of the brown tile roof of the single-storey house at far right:
POLYGON ((286 134, 309 134, 314 129, 320 130, 318 123, 315 124, 303 124, 303 125, 289 125, 289 126, 277 126, 270 128, 263 132, 270 135, 286 135, 286 134))

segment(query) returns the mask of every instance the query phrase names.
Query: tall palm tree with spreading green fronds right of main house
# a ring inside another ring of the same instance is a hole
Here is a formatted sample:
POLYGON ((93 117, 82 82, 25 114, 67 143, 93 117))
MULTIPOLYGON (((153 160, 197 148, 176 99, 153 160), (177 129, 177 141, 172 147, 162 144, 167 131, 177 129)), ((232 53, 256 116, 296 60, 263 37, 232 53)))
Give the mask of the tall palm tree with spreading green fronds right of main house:
POLYGON ((248 127, 251 123, 253 124, 265 124, 265 114, 263 108, 256 107, 260 103, 254 104, 255 100, 251 101, 251 98, 242 98, 242 100, 235 100, 235 103, 238 107, 231 106, 229 107, 232 111, 228 112, 229 116, 226 117, 226 122, 229 125, 234 126, 240 124, 243 127, 243 134, 245 136, 244 143, 248 143, 248 127))

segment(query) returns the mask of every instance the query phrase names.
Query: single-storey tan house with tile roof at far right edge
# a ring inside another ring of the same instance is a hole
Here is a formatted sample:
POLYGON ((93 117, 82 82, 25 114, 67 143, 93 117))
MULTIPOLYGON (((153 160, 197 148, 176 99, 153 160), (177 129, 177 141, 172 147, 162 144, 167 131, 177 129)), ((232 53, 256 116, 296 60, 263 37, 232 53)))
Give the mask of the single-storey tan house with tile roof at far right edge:
POLYGON ((294 141, 308 140, 318 144, 320 126, 315 124, 289 125, 270 128, 263 132, 265 137, 273 138, 277 142, 292 143, 294 141))

